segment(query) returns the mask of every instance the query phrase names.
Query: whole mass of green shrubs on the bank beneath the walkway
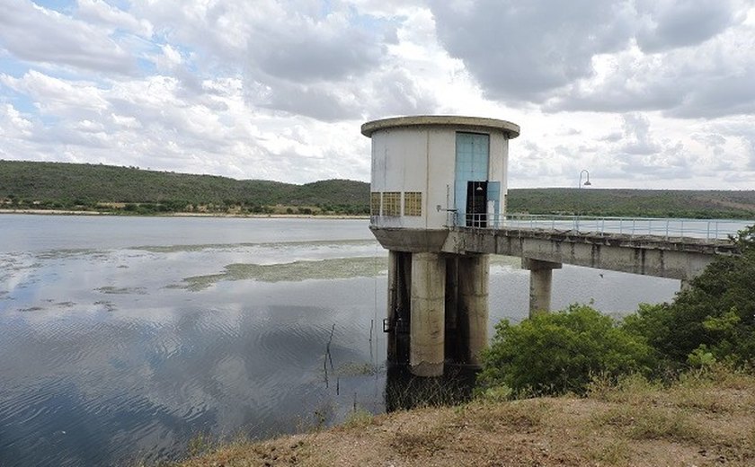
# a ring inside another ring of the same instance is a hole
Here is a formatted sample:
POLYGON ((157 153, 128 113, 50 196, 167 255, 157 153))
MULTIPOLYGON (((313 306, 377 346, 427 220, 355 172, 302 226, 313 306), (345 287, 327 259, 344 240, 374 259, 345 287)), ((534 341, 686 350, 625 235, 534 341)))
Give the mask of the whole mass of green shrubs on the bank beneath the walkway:
POLYGON ((623 322, 572 305, 496 326, 478 377, 484 394, 584 394, 597 376, 667 377, 723 363, 755 364, 755 226, 734 239, 671 304, 644 304, 623 322))

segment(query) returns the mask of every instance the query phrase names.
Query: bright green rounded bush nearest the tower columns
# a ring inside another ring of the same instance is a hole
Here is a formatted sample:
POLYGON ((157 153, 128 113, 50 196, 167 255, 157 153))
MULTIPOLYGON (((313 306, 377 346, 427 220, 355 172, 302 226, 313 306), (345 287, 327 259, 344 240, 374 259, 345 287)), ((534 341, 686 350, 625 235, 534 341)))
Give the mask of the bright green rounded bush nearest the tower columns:
POLYGON ((596 374, 647 373, 652 349, 641 337, 586 305, 573 304, 512 325, 496 325, 478 377, 482 391, 499 385, 514 392, 584 393, 596 374))

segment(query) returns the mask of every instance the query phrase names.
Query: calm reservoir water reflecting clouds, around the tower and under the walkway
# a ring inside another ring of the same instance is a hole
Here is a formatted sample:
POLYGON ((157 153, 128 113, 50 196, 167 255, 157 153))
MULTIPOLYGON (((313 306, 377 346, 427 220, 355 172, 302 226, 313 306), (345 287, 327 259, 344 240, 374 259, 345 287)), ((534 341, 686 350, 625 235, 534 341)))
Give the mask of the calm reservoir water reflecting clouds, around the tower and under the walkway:
MULTIPOLYGON (((0 216, 0 465, 156 462, 386 410, 386 257, 367 220, 0 216)), ((527 314, 517 263, 492 260, 491 335, 527 314)), ((678 288, 564 265, 553 305, 678 288)))

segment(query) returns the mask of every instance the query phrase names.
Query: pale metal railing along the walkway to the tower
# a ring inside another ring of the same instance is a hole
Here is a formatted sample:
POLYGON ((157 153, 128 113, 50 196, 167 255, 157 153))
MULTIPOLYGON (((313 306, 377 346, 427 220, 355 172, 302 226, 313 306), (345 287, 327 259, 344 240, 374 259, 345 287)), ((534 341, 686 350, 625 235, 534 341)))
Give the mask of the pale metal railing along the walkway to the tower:
POLYGON ((573 231, 580 234, 653 235, 726 240, 755 220, 681 219, 655 217, 541 216, 530 214, 467 214, 458 226, 573 231))

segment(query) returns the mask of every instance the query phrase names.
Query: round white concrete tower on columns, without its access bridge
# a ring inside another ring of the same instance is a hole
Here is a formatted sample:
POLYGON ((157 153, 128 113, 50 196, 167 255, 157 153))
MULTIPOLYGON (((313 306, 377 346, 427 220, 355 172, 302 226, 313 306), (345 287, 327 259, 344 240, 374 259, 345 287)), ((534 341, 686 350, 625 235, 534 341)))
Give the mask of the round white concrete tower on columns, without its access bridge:
POLYGON ((488 257, 449 254, 456 226, 493 226, 506 211, 509 140, 520 128, 454 116, 370 121, 370 229, 389 251, 388 361, 438 376, 478 365, 487 344, 488 257))

